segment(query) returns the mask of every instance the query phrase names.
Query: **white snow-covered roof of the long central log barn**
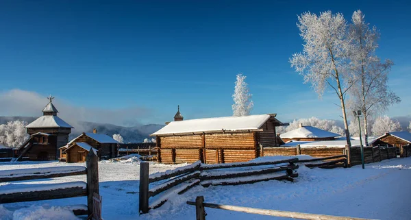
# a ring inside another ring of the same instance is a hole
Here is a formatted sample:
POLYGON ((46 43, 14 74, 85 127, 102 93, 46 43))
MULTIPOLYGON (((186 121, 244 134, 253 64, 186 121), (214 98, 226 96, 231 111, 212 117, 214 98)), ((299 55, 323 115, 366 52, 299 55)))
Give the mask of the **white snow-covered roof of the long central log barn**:
POLYGON ((209 119, 191 119, 172 121, 151 136, 165 134, 189 134, 193 132, 230 132, 241 130, 260 130, 271 118, 270 114, 256 114, 243 117, 219 117, 209 119))

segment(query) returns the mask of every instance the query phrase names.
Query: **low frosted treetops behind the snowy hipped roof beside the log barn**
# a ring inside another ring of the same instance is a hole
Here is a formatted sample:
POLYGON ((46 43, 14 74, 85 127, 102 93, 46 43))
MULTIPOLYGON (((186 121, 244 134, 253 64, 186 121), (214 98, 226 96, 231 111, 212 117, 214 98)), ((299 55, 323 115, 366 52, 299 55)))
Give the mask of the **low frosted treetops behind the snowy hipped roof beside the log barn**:
POLYGON ((280 134, 290 132, 297 129, 299 127, 299 124, 303 124, 304 126, 318 127, 319 129, 340 134, 341 136, 345 134, 343 128, 339 127, 336 121, 328 119, 318 119, 316 117, 311 117, 309 119, 294 119, 294 121, 291 121, 290 125, 288 126, 277 127, 276 132, 280 134))

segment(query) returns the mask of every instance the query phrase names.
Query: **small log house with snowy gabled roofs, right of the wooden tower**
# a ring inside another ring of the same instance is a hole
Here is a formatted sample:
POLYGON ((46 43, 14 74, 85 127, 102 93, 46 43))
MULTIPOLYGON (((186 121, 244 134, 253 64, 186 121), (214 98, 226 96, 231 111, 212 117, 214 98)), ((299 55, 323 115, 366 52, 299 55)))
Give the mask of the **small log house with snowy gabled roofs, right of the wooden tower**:
POLYGON ((71 140, 67 145, 60 147, 60 160, 66 162, 84 162, 84 155, 90 149, 97 152, 100 160, 115 158, 119 154, 119 142, 106 134, 82 133, 71 140))

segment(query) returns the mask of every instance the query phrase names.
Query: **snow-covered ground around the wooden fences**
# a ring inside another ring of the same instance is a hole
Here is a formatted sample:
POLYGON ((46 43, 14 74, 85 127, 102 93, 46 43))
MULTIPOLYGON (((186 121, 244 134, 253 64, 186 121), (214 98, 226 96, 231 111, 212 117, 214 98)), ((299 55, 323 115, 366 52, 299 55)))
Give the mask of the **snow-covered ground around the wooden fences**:
MULTIPOLYGON (((284 159, 282 157, 281 159, 284 159)), ((257 159, 258 160, 258 159, 257 159)), ((24 169, 66 165, 60 162, 3 162, 0 169, 24 169)), ((175 169, 180 165, 150 164, 150 173, 175 169)), ((295 182, 271 180, 240 186, 195 186, 184 195, 169 199, 162 207, 138 215, 138 162, 99 162, 100 194, 103 196, 103 218, 108 219, 194 219, 195 207, 186 204, 203 195, 206 202, 253 208, 309 212, 323 215, 362 217, 369 219, 411 219, 411 158, 384 160, 350 169, 308 169, 301 166, 295 182)), ((0 184, 5 188, 24 187, 23 184, 44 184, 84 181, 85 176, 54 178, 0 184)), ((161 194, 158 195, 162 196, 161 194)), ((55 199, 50 201, 3 204, 0 219, 16 219, 27 215, 31 205, 66 206, 86 204, 86 197, 55 199), (23 213, 23 214, 22 214, 23 213), (1 215, 3 215, 1 217, 1 215)), ((32 207, 32 209, 34 209, 32 207)), ((38 210, 38 209, 35 209, 38 210)), ((50 213, 55 211, 55 208, 50 213)), ((38 212, 44 213, 45 210, 38 212)), ((206 208, 207 219, 277 219, 242 212, 206 208)), ((22 218, 20 218, 22 219, 22 218)), ((64 219, 60 218, 60 219, 64 219)), ((70 219, 67 217, 66 219, 70 219)), ((284 218, 278 218, 284 219, 284 218)))

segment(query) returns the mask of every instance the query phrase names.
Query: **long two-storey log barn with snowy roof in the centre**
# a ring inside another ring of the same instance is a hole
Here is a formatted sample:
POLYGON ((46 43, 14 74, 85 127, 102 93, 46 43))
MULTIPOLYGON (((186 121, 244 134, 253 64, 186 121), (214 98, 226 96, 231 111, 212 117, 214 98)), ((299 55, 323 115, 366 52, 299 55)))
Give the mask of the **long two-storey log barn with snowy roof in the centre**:
POLYGON ((209 164, 243 162, 260 156, 260 147, 282 143, 275 127, 285 124, 275 116, 259 114, 173 121, 151 136, 156 137, 158 161, 166 164, 197 160, 209 164))

